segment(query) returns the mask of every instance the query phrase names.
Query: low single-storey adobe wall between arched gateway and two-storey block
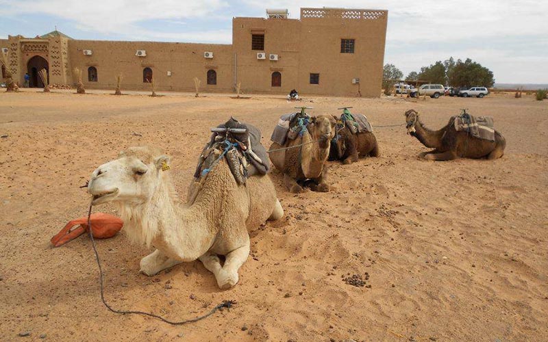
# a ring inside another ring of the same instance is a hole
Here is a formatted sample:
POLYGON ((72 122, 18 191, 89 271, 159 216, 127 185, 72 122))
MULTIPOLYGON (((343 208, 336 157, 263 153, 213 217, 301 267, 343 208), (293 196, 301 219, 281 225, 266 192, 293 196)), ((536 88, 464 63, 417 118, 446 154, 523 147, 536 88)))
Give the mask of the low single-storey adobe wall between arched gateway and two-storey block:
POLYGON ((228 44, 69 40, 69 55, 71 68, 83 70, 86 88, 114 89, 115 77, 121 73, 122 90, 150 90, 151 85, 142 79, 143 68, 149 67, 157 90, 194 92, 194 77, 201 80, 201 91, 233 90, 232 46, 228 44), (91 50, 92 55, 84 55, 84 50, 91 50), (146 57, 136 56, 137 50, 145 50, 146 57), (213 52, 213 58, 204 58, 205 51, 213 52), (90 66, 97 68, 97 82, 88 81, 90 66), (216 86, 207 84, 209 69, 216 70, 216 86))

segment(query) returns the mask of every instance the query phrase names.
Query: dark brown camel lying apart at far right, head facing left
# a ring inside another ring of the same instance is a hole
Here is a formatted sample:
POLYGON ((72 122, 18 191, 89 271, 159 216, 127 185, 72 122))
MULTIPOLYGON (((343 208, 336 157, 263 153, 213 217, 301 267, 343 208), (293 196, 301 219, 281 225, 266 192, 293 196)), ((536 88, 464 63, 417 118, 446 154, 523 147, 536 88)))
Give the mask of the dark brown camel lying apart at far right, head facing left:
POLYGON ((506 140, 498 131, 495 131, 495 141, 491 142, 469 135, 466 131, 456 131, 454 118, 451 118, 443 129, 432 131, 419 120, 417 111, 410 109, 406 111, 405 116, 408 134, 416 137, 426 147, 434 148, 419 154, 419 157, 423 159, 438 161, 460 157, 497 159, 504 154, 506 140))

